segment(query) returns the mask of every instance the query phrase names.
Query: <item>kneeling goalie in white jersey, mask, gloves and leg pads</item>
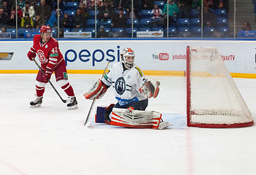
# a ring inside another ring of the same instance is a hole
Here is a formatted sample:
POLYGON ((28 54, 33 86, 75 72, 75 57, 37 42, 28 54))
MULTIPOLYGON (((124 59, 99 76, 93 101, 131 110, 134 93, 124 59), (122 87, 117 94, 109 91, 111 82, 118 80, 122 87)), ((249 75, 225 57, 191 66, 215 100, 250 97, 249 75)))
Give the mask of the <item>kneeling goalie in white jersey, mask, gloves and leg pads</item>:
POLYGON ((145 111, 148 98, 156 98, 160 82, 147 79, 141 69, 134 64, 135 54, 131 48, 125 48, 120 54, 121 62, 115 63, 98 79, 88 92, 86 99, 100 99, 106 90, 113 86, 117 104, 108 107, 98 107, 96 123, 106 123, 128 128, 165 129, 170 125, 163 122, 159 112, 145 111))

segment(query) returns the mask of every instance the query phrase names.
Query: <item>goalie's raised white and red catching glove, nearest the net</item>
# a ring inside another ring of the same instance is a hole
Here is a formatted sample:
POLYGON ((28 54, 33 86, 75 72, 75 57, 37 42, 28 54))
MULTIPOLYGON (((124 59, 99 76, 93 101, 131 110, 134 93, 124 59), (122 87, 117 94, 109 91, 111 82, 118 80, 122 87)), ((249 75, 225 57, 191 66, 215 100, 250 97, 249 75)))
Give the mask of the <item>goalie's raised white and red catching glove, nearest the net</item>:
POLYGON ((151 97, 156 98, 159 93, 159 85, 160 85, 160 82, 150 79, 147 82, 145 82, 141 88, 139 88, 139 92, 145 98, 151 98, 151 97))

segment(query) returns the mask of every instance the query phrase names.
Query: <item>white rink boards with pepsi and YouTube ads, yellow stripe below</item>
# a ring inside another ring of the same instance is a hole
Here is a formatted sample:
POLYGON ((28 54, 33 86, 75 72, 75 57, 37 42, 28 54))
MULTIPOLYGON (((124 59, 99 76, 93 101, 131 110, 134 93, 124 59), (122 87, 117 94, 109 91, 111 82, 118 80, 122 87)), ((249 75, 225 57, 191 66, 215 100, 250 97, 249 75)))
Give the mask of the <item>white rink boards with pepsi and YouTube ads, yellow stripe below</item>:
MULTIPOLYGON (((14 52, 10 60, 0 60, 1 74, 36 73, 35 63, 27 58, 33 41, 0 42, 0 53, 14 52)), ((60 39, 59 46, 69 74, 101 74, 120 61, 123 48, 131 47, 135 63, 151 75, 185 75, 186 47, 217 47, 233 77, 256 78, 256 40, 217 39, 60 39)))

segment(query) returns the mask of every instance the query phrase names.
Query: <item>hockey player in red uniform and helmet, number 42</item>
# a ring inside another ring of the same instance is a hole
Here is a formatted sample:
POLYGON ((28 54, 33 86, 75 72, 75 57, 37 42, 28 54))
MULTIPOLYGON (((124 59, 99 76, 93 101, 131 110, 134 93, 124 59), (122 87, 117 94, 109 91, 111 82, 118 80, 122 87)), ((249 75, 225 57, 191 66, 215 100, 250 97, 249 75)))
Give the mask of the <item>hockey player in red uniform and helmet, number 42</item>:
POLYGON ((52 29, 49 26, 42 26, 40 34, 34 36, 34 42, 28 51, 28 58, 34 61, 36 54, 41 62, 42 71, 39 70, 36 76, 36 99, 31 101, 31 106, 41 106, 44 94, 44 86, 55 72, 56 82, 69 96, 68 109, 77 109, 77 99, 74 90, 69 84, 66 73, 66 63, 58 47, 58 41, 52 37, 52 29))

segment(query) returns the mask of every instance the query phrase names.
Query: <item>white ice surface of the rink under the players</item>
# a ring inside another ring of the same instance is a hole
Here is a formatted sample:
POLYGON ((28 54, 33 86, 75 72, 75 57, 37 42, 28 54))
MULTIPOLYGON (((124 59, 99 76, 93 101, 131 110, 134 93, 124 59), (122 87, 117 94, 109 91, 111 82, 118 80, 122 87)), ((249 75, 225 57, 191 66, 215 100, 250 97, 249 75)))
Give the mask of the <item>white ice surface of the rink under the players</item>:
MULTIPOLYGON (((147 110, 163 114, 166 130, 83 126, 92 101, 82 94, 99 74, 69 74, 79 109, 69 111, 49 84, 30 108, 36 74, 0 74, 0 175, 254 175, 256 126, 187 128, 185 77, 158 77, 147 110)), ((65 94, 52 77, 61 96, 65 94)), ((256 79, 234 79, 255 119, 256 79)), ((116 103, 112 88, 96 106, 116 103)))

